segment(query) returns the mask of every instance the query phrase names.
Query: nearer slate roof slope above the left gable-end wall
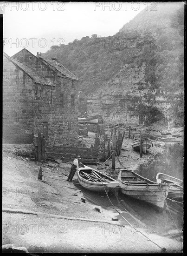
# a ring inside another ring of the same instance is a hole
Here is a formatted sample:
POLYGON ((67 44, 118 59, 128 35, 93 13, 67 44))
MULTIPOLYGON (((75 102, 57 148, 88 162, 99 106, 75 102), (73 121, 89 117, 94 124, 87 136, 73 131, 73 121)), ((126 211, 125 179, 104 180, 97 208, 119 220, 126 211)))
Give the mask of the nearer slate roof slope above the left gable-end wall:
POLYGON ((12 58, 10 58, 7 54, 4 53, 6 58, 11 61, 13 64, 15 64, 17 67, 19 67, 23 72, 25 72, 29 77, 33 79, 33 81, 37 84, 42 85, 52 85, 52 83, 48 82, 45 77, 37 74, 37 72, 30 66, 26 65, 26 63, 23 63, 21 61, 16 61, 12 58))

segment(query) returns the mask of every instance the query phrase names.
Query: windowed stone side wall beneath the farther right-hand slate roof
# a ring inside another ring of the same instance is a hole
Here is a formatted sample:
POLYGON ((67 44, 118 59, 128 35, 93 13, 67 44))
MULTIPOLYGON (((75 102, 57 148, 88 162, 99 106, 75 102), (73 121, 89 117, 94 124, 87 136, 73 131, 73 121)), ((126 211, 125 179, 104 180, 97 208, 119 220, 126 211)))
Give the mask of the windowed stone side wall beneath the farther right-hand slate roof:
POLYGON ((37 104, 35 131, 47 131, 48 146, 69 145, 78 143, 77 86, 72 88, 69 80, 63 86, 63 79, 56 78, 56 86, 37 87, 37 104), (71 106, 71 95, 74 95, 74 106, 71 106), (62 98, 63 97, 63 103, 62 98))

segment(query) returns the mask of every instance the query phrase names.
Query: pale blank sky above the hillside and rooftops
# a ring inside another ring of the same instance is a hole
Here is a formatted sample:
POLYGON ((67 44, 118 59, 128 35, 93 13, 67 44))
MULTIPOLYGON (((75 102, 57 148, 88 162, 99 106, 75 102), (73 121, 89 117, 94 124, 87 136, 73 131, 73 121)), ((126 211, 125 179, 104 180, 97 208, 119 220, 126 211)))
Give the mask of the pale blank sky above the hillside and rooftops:
POLYGON ((143 2, 1 2, 4 51, 45 53, 92 34, 114 35, 146 8, 143 2))

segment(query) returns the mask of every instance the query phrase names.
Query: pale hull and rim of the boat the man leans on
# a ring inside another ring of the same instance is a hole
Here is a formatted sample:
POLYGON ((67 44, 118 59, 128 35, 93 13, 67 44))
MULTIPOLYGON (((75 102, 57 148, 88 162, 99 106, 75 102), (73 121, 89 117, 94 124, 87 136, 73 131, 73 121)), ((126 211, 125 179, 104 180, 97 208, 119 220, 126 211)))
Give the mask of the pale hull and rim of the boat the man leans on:
POLYGON ((118 187, 119 182, 117 182, 115 179, 113 179, 113 178, 111 178, 110 176, 107 176, 107 175, 105 175, 105 176, 108 179, 110 179, 110 182, 91 182, 91 181, 88 181, 88 180, 84 179, 83 177, 80 176, 80 171, 81 170, 85 171, 85 170, 88 170, 88 169, 94 170, 99 175, 103 175, 99 171, 97 171, 93 168, 90 168, 88 166, 84 166, 84 168, 79 168, 78 171, 77 171, 78 182, 85 189, 88 189, 90 191, 95 191, 95 192, 108 192, 111 189, 118 187))

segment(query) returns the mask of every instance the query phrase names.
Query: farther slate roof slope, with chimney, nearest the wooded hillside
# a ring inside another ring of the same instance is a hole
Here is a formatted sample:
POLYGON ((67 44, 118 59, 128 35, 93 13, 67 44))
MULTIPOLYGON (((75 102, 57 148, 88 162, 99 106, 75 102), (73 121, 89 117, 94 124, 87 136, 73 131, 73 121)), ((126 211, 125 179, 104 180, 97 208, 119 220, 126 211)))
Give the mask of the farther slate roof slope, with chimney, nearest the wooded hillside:
POLYGON ((67 68, 65 68, 62 64, 58 63, 57 61, 51 61, 44 59, 42 57, 39 57, 40 60, 44 62, 44 64, 49 65, 56 71, 58 71, 64 78, 69 78, 71 80, 78 81, 77 76, 75 76, 73 73, 71 73, 67 68))

